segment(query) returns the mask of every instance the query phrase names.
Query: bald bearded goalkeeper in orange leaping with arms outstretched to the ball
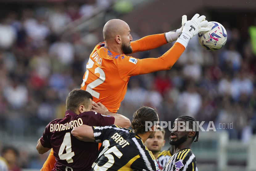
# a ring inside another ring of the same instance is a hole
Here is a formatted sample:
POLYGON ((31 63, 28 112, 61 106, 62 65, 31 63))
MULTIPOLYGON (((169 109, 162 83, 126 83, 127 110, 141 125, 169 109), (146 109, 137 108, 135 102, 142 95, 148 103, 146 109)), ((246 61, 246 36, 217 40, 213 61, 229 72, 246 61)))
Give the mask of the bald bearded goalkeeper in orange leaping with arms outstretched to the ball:
MULTIPOLYGON (((116 113, 125 96, 131 76, 171 69, 184 52, 189 40, 200 31, 209 31, 209 28, 203 27, 208 23, 205 21, 205 16, 199 16, 196 14, 187 21, 184 15, 180 29, 146 36, 134 42, 126 22, 119 19, 109 20, 103 28, 105 42, 96 45, 90 54, 81 89, 91 93, 93 101, 98 105, 101 105, 99 103, 101 102, 109 112, 116 113), (159 58, 136 59, 126 56, 173 41, 176 42, 171 49, 159 58)), ((52 152, 42 170, 50 171, 51 162, 54 162, 52 152)))

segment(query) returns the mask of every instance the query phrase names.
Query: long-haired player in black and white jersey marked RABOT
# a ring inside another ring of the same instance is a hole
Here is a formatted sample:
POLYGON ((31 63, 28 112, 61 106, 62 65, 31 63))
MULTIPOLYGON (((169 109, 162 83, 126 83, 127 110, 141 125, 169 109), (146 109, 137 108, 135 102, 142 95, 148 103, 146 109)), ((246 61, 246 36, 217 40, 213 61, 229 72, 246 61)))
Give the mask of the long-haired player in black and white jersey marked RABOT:
POLYGON ((159 121, 156 111, 150 107, 142 107, 134 113, 133 130, 116 125, 81 125, 74 128, 71 133, 82 141, 102 142, 100 154, 92 165, 92 171, 158 171, 155 157, 143 145, 148 138, 154 137, 156 125, 151 127, 152 131, 146 130, 146 121, 159 121))

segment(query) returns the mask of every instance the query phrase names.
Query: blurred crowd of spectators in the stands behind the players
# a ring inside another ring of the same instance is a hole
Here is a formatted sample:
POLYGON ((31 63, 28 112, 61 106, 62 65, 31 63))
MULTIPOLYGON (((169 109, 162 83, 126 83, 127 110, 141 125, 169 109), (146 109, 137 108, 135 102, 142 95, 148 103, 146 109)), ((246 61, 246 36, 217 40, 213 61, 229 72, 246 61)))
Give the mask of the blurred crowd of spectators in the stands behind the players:
MULTIPOLYGON (((27 8, 21 14, 10 11, 1 18, 1 131, 13 137, 39 138, 50 121, 64 116, 68 93, 81 87, 89 54, 103 41, 102 34, 73 32, 66 26, 76 19, 90 18, 95 9, 108 9, 111 2, 27 8)), ((138 107, 147 105, 157 109, 160 121, 190 115, 205 121, 205 127, 209 121, 214 121, 216 128, 219 123, 233 123, 233 129, 227 130, 230 138, 247 141, 256 133, 256 54, 250 34, 242 38, 240 30, 228 22, 221 24, 228 35, 221 50, 204 50, 193 38, 171 70, 130 78, 118 113, 131 119, 138 107)), ((165 23, 155 33, 149 22, 141 21, 138 29, 131 28, 131 35, 136 40, 171 28, 165 23)), ((131 56, 156 58, 171 46, 131 56)), ((38 162, 23 161, 20 166, 41 168, 38 162)))

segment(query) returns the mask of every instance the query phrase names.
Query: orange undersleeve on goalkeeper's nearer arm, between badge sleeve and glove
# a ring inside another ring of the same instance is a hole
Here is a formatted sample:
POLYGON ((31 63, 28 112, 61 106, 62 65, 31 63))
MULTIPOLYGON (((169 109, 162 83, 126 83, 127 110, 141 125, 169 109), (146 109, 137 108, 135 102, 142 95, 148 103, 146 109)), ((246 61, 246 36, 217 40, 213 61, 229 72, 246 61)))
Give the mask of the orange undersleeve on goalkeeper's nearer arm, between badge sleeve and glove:
POLYGON ((142 59, 142 66, 139 74, 148 74, 156 71, 170 70, 174 63, 180 58, 185 47, 176 42, 171 49, 159 58, 142 59))

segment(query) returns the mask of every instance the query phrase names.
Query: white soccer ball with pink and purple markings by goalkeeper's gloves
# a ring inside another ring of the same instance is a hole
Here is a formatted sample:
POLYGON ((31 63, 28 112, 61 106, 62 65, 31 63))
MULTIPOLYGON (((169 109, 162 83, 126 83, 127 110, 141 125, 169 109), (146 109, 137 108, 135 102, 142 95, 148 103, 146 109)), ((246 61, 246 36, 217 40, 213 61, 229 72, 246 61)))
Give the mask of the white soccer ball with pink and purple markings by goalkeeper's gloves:
POLYGON ((225 28, 218 22, 208 22, 204 27, 209 27, 210 31, 198 33, 198 41, 204 49, 219 50, 227 42, 227 32, 225 28))

